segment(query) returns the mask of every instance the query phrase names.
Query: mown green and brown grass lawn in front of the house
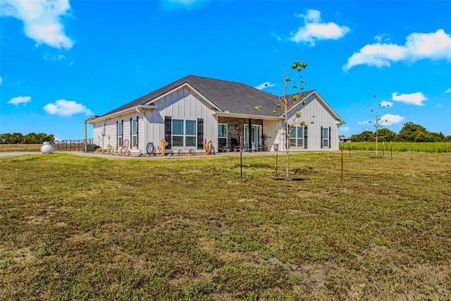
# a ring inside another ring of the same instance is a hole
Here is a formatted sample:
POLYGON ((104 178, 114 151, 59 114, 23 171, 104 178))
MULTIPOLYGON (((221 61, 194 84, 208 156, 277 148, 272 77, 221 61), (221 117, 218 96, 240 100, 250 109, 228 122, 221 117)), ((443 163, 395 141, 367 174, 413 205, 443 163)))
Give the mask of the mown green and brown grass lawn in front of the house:
POLYGON ((451 154, 109 158, 0 158, 0 300, 451 298, 451 154))

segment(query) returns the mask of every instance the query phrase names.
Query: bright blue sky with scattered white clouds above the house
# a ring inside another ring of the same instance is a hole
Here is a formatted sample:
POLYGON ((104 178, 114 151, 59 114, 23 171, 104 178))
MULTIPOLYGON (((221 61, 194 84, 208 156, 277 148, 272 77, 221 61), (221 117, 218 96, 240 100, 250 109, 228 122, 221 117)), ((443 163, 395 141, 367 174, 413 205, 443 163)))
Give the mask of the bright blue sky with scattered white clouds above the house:
POLYGON ((0 5, 0 133, 82 139, 90 116, 190 74, 280 94, 280 70, 302 61, 342 135, 373 130, 378 104, 396 133, 412 121, 451 135, 451 1, 0 5))

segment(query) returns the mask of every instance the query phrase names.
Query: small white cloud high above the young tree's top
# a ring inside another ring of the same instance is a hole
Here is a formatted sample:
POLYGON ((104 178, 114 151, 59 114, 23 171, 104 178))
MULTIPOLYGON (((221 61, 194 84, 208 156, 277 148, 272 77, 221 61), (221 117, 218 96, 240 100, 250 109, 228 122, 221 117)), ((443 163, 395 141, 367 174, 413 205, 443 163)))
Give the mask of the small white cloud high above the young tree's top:
POLYGON ((304 27, 299 27, 296 33, 291 33, 290 39, 293 42, 305 42, 310 46, 315 46, 316 40, 321 39, 340 39, 350 27, 340 26, 333 22, 321 23, 321 12, 314 9, 307 10, 307 15, 298 15, 304 18, 304 27))

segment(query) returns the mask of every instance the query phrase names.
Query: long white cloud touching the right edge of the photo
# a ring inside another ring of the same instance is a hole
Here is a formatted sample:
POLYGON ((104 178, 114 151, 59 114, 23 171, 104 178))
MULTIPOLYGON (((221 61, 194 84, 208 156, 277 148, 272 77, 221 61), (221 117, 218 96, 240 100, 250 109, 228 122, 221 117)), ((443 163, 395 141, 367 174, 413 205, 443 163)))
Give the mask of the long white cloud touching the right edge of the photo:
POLYGON ((389 67, 392 62, 422 59, 451 61, 451 36, 440 29, 430 33, 414 32, 407 37, 404 45, 367 44, 347 59, 343 69, 349 70, 357 65, 389 67))

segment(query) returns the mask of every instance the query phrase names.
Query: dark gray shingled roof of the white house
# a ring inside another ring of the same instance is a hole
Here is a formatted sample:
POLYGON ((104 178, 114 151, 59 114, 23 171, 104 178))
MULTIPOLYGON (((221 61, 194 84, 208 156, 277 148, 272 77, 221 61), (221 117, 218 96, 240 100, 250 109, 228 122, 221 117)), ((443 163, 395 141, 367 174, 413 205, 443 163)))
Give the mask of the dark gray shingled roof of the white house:
MULTIPOLYGON (((135 99, 128 104, 120 106, 113 111, 109 111, 102 116, 147 104, 157 97, 160 97, 161 95, 170 92, 185 83, 191 85, 195 90, 197 90, 197 92, 202 94, 206 97, 206 99, 209 99, 210 102, 225 112, 228 111, 230 113, 256 116, 281 116, 283 114, 283 111, 276 107, 276 96, 273 94, 269 94, 239 82, 229 82, 227 80, 215 80, 213 78, 202 78, 200 76, 188 75, 185 78, 181 78, 180 80, 161 87, 154 92, 135 99), (261 106, 262 109, 257 111, 255 106, 261 106), (277 113, 273 113, 274 109, 277 110, 277 113)), ((304 92, 304 94, 309 94, 309 92, 311 91, 304 92)))

